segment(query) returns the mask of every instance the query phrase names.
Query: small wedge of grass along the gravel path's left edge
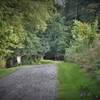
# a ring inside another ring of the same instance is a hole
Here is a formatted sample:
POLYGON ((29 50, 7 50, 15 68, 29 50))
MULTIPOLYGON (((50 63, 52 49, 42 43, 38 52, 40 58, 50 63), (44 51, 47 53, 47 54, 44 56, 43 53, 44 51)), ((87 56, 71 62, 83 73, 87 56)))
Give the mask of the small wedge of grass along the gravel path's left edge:
POLYGON ((0 68, 0 78, 4 77, 16 70, 16 67, 13 68, 0 68))

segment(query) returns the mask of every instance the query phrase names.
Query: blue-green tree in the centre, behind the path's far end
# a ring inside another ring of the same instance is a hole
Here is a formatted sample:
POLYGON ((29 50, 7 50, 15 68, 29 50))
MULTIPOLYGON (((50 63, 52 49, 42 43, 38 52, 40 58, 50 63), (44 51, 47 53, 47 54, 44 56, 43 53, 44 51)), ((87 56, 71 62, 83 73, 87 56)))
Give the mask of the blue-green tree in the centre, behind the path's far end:
POLYGON ((68 32, 68 27, 65 25, 65 17, 57 16, 53 23, 48 25, 45 37, 50 46, 47 58, 60 59, 63 57, 65 48, 70 45, 70 40, 72 39, 71 34, 68 32))

